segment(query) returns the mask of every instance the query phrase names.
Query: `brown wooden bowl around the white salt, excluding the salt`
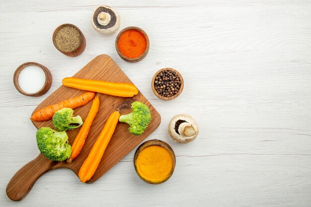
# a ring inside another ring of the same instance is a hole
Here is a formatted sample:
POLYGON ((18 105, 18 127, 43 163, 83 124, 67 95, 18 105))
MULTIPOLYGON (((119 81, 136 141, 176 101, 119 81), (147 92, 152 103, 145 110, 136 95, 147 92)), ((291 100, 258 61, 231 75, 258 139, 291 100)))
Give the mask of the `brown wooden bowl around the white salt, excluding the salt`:
POLYGON ((21 94, 26 95, 26 96, 41 96, 41 95, 45 94, 50 89, 50 87, 52 85, 52 80, 53 80, 53 78, 52 78, 52 74, 51 74, 50 70, 47 69, 45 66, 38 64, 38 63, 35 63, 35 62, 28 62, 28 63, 24 63, 24 64, 20 65, 15 70, 14 75, 13 75, 13 83, 14 83, 15 88, 18 90, 18 92, 20 92, 21 94), (38 66, 44 71, 44 74, 45 74, 44 85, 42 86, 42 88, 39 91, 37 91, 35 93, 27 93, 27 92, 23 91, 18 84, 18 76, 19 76, 20 72, 28 66, 38 66))

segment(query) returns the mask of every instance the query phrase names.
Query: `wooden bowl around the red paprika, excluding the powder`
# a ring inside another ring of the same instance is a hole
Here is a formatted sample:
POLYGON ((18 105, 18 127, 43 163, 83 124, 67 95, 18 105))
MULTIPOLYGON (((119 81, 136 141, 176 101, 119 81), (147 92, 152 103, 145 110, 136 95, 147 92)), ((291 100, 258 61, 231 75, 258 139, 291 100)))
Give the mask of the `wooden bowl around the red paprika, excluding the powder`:
POLYGON ((147 54, 149 52, 149 44, 150 43, 149 43, 148 35, 144 30, 142 30, 139 27, 126 27, 126 28, 122 29, 121 32, 119 32, 119 34, 117 35, 115 47, 116 47, 116 50, 117 50, 120 58, 122 58, 124 61, 129 62, 129 63, 136 63, 136 62, 143 60, 147 56, 147 54), (141 32, 146 38, 146 41, 147 41, 146 50, 141 56, 139 56, 137 58, 128 58, 128 57, 124 56, 119 50, 119 47, 118 47, 119 37, 123 32, 125 32, 127 30, 137 30, 137 31, 141 32))

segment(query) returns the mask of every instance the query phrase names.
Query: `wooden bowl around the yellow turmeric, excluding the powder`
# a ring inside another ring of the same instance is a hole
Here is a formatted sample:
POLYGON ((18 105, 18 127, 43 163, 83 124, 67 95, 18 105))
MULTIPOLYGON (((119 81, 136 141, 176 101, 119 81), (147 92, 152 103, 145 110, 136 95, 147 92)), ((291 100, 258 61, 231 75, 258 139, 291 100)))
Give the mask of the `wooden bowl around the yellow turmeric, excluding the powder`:
POLYGON ((172 174, 173 174, 173 172, 174 172, 174 169, 175 169, 175 165, 176 165, 176 158, 175 158, 175 153, 174 153, 173 149, 172 149, 166 142, 161 141, 161 140, 158 140, 158 139, 152 139, 152 140, 145 141, 144 143, 142 143, 142 144, 137 148, 137 150, 136 150, 136 152, 135 152, 135 155, 134 155, 134 167, 135 167, 135 171, 136 171, 137 175, 138 175, 143 181, 145 181, 145 182, 147 182, 147 183, 150 183, 150 184, 160 184, 160 183, 164 183, 165 181, 167 181, 167 180, 172 176, 172 174), (153 182, 153 181, 150 181, 150 180, 144 178, 144 177, 139 173, 139 171, 138 171, 138 169, 137 169, 137 158, 138 158, 140 152, 141 152, 144 148, 146 148, 146 147, 148 147, 148 146, 152 146, 152 145, 158 145, 158 146, 164 147, 164 148, 170 153, 170 155, 171 155, 171 157, 172 157, 172 159, 173 159, 173 166, 172 166, 172 169, 171 169, 171 171, 169 172, 168 176, 167 176, 165 179, 160 180, 160 181, 158 181, 158 182, 153 182))

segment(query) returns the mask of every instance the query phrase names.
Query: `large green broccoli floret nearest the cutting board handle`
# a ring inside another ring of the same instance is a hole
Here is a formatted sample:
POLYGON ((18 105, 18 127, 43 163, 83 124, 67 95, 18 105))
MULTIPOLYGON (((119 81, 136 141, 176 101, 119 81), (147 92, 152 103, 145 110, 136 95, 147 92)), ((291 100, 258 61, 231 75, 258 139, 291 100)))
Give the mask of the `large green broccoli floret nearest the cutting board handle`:
POLYGON ((71 156, 71 145, 65 131, 57 132, 49 127, 41 127, 36 134, 40 152, 48 159, 63 161, 71 156))

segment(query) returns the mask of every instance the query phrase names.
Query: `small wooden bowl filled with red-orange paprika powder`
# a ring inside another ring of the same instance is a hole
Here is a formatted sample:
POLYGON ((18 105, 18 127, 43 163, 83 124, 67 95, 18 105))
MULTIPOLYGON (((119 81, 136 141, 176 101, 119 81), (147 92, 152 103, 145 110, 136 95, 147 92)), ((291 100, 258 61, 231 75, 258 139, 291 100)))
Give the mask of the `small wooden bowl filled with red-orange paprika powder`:
POLYGON ((129 63, 135 63, 147 56, 149 38, 139 27, 126 27, 118 34, 115 46, 120 58, 129 63))

